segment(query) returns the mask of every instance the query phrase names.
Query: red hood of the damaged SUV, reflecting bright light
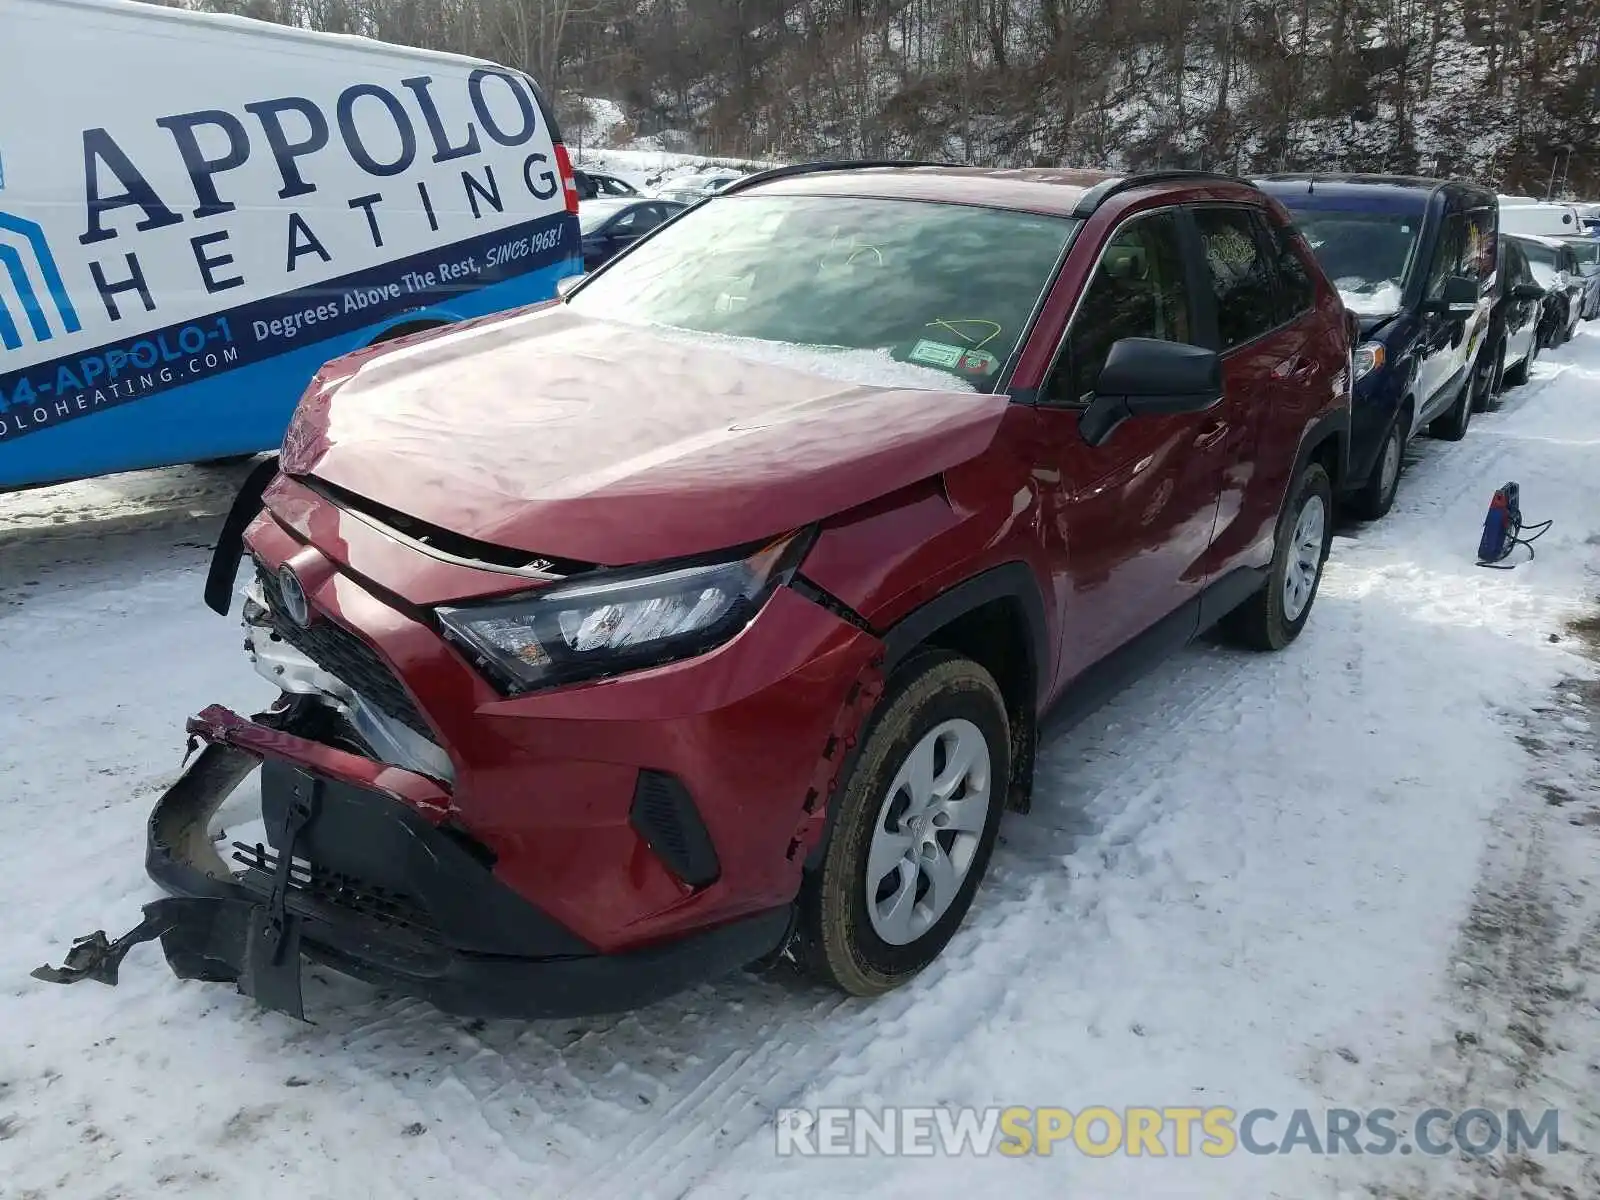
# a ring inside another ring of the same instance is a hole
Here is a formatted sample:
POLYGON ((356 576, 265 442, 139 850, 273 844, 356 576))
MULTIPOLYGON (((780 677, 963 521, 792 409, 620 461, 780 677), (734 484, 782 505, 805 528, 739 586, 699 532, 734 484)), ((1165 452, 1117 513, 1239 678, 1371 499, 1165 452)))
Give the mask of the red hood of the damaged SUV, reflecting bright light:
POLYGON ((283 470, 478 541, 624 565, 915 483, 982 453, 1008 403, 840 382, 726 346, 555 304, 352 355, 301 402, 283 470))

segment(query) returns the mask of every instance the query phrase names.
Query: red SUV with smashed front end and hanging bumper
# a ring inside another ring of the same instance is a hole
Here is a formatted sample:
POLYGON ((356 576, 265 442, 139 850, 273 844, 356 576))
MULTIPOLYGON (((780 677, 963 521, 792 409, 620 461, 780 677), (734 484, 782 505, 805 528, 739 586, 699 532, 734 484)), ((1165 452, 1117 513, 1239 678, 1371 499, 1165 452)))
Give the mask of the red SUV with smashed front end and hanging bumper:
POLYGON ((1027 810, 1043 714, 1213 624, 1299 634, 1349 394, 1341 302, 1246 182, 738 181, 558 301, 322 371, 208 587, 242 534, 283 696, 189 723, 173 899, 40 974, 160 936, 294 1014, 302 955, 485 1014, 786 949, 894 987, 1027 810), (266 840, 221 846, 258 766, 266 840))

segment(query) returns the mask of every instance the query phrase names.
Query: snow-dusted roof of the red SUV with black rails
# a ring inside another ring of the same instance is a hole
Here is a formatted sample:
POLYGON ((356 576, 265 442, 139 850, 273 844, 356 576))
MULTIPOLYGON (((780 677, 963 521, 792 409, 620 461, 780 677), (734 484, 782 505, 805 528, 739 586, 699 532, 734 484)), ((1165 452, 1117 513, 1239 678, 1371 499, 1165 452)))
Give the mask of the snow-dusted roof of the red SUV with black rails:
POLYGON ((1149 171, 1120 176, 1058 166, 941 166, 931 163, 797 163, 762 171, 731 184, 723 195, 760 190, 768 195, 883 197, 1018 208, 1053 216, 1088 216, 1085 210, 1134 187, 1232 184, 1259 190, 1234 176, 1205 171, 1149 171))

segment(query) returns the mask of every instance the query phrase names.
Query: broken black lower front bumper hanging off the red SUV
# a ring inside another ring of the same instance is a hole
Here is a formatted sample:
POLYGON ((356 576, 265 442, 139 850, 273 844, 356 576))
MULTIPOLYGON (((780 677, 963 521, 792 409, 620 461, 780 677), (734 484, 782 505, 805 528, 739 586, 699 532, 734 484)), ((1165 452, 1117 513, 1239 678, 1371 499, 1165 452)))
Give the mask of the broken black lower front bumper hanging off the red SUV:
POLYGON ((34 976, 115 986, 125 955, 160 939, 179 978, 232 982, 298 1019, 304 958, 451 1013, 576 1016, 651 1003, 787 939, 784 907, 600 954, 494 877, 435 779, 301 736, 306 712, 290 701, 253 720, 222 707, 194 717, 190 752, 203 749, 149 819, 146 869, 170 898, 34 976), (210 824, 258 768, 267 842, 232 843, 230 866, 210 824))

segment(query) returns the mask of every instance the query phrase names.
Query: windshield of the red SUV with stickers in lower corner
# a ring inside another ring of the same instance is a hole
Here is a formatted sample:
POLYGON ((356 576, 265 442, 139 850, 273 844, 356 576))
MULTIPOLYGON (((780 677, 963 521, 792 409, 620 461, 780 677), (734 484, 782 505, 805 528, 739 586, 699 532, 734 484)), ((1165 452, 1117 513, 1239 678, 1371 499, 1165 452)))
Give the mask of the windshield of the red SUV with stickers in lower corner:
POLYGON ((869 352, 918 368, 907 386, 987 392, 1077 226, 917 200, 731 195, 640 243, 570 304, 725 349, 808 347, 811 363, 829 357, 818 350, 858 352, 866 366, 869 352))

